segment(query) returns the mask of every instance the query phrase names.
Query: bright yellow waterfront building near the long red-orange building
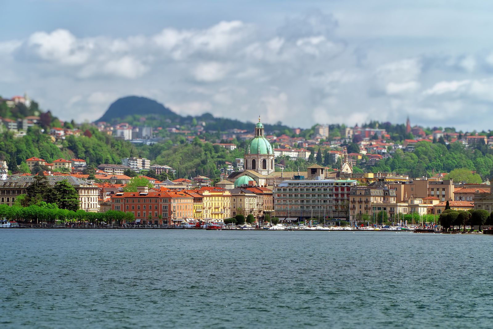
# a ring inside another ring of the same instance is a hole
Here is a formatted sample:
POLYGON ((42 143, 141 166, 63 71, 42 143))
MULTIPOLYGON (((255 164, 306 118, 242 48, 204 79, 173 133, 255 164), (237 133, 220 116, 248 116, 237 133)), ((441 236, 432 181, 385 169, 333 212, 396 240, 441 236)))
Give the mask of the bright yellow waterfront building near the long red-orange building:
POLYGON ((223 221, 231 215, 231 192, 228 190, 195 190, 203 196, 203 219, 223 221))

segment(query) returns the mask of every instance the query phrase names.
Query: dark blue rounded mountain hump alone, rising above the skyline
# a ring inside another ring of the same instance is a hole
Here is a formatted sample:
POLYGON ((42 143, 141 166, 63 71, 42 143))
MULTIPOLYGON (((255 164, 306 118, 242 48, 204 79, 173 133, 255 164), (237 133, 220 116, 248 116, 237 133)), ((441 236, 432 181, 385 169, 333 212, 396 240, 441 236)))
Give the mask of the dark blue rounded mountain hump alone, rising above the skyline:
POLYGON ((106 110, 105 114, 103 114, 103 116, 96 121, 112 122, 115 119, 121 119, 128 115, 134 114, 159 114, 163 117, 172 119, 179 116, 172 110, 154 100, 145 97, 127 96, 119 98, 113 102, 109 106, 108 110, 106 110))

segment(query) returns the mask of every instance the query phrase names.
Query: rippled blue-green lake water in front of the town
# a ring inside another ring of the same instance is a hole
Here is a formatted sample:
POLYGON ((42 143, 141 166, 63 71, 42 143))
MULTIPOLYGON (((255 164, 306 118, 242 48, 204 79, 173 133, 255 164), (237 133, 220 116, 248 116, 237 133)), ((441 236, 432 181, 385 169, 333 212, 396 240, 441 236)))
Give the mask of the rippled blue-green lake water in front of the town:
POLYGON ((1 328, 492 328, 493 236, 0 229, 1 328))

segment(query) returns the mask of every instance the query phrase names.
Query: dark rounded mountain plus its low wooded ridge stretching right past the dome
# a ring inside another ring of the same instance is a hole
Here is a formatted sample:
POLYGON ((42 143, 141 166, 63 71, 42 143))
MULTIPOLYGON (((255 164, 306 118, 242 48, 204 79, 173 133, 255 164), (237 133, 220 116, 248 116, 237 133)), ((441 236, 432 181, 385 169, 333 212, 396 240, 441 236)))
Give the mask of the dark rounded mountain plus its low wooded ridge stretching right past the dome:
MULTIPOLYGON (((233 128, 252 130, 255 125, 255 123, 242 122, 236 119, 216 118, 211 113, 204 113, 195 117, 190 115, 181 116, 154 100, 138 96, 127 96, 116 100, 96 122, 106 121, 114 124, 124 121, 132 124, 139 121, 140 116, 150 119, 146 122, 147 125, 161 127, 191 125, 193 119, 197 122, 204 121, 207 124, 205 127, 207 131, 226 131, 233 128)), ((255 120, 256 117, 254 116, 251 119, 255 120)), ((265 128, 270 132, 290 130, 289 127, 282 125, 281 122, 274 125, 265 124, 265 128)))

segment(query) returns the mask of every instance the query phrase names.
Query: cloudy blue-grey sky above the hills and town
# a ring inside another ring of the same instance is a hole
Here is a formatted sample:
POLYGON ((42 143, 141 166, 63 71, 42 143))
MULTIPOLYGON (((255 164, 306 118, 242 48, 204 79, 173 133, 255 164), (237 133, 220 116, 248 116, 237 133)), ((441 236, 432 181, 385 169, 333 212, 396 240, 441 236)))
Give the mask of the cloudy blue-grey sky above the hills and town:
POLYGON ((0 95, 27 92, 65 120, 139 95, 293 127, 409 115, 490 128, 491 1, 1 3, 0 95))

